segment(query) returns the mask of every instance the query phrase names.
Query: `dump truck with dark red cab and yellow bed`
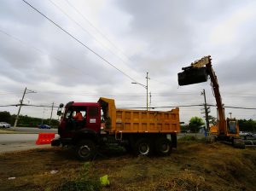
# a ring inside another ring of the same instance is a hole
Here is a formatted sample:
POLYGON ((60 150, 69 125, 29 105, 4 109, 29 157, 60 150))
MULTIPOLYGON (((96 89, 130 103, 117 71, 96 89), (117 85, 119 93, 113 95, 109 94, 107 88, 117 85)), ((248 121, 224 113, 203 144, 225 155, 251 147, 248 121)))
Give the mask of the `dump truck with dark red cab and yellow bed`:
POLYGON ((74 146, 79 159, 92 159, 110 144, 137 155, 168 155, 177 148, 178 107, 166 112, 118 109, 113 99, 101 97, 97 102, 61 104, 57 114, 61 115, 60 136, 51 145, 74 146), (78 110, 83 115, 79 122, 73 119, 78 110))

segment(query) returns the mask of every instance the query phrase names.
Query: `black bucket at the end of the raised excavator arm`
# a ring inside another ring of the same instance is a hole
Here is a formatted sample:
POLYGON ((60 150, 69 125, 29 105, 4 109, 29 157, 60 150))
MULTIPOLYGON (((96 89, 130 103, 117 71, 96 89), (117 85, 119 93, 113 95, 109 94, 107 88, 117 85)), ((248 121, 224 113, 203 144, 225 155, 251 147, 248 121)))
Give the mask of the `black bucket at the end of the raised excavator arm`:
POLYGON ((207 81, 207 67, 186 67, 183 70, 183 72, 177 74, 179 85, 197 84, 207 81))

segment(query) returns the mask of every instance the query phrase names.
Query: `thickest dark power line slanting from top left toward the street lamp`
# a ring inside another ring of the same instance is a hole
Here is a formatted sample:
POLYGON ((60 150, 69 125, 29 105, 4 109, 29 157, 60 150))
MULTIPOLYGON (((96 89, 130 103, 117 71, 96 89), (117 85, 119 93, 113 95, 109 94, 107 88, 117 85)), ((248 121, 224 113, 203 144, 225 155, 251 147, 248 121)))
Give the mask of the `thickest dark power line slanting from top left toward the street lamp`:
POLYGON ((57 26, 59 29, 61 29, 62 32, 65 32, 68 36, 70 36, 71 38, 73 38, 75 41, 77 41, 78 43, 80 43, 82 46, 84 46, 84 48, 89 49, 90 52, 92 52, 93 54, 95 54, 96 56, 98 56, 100 59, 102 59, 102 61, 105 61, 109 66, 115 68, 116 70, 118 70, 119 72, 121 72, 123 75, 125 75, 127 78, 130 78, 133 81, 136 81, 134 78, 131 78, 128 74, 126 74, 125 72, 121 71, 118 67, 115 67, 110 61, 107 61, 104 57, 102 57, 102 55, 99 55, 98 53, 96 53, 96 51, 94 51, 93 49, 90 49, 89 46, 87 46, 86 44, 84 44, 83 42, 81 42, 78 38, 75 38, 70 32, 67 32, 64 28, 62 28, 60 25, 58 25, 57 23, 55 23, 55 21, 49 19, 48 16, 46 16, 45 14, 43 14, 41 11, 39 11, 38 9, 36 9, 35 7, 32 6, 32 4, 27 3, 25 0, 22 0, 24 3, 26 3, 29 7, 31 7, 32 9, 34 9, 35 11, 38 12, 38 14, 41 14, 42 16, 44 16, 45 19, 49 20, 52 24, 54 24, 55 26, 57 26))

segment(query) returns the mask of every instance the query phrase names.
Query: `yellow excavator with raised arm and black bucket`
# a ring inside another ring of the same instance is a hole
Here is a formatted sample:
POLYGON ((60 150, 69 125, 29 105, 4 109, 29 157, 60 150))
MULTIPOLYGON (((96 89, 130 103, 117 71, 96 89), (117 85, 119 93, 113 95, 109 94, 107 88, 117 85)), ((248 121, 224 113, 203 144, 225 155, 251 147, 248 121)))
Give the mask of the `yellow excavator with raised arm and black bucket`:
POLYGON ((219 92, 218 79, 212 68, 211 55, 194 61, 189 67, 183 67, 182 70, 183 72, 177 74, 180 86, 207 82, 208 76, 210 76, 218 111, 218 123, 210 127, 210 136, 216 141, 230 142, 235 148, 244 148, 244 144, 239 139, 239 126, 236 119, 225 119, 224 104, 219 92))

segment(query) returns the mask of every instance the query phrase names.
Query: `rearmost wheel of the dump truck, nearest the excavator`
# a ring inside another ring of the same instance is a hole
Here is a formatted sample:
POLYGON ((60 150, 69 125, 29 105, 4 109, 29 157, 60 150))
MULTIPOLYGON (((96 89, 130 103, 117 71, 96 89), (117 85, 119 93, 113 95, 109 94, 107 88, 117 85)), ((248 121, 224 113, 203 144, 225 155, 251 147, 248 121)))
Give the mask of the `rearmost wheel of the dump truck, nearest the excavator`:
POLYGON ((155 142, 155 151, 161 156, 169 155, 172 152, 172 142, 165 137, 159 138, 155 142))

